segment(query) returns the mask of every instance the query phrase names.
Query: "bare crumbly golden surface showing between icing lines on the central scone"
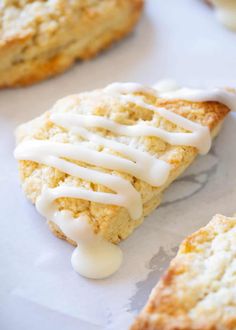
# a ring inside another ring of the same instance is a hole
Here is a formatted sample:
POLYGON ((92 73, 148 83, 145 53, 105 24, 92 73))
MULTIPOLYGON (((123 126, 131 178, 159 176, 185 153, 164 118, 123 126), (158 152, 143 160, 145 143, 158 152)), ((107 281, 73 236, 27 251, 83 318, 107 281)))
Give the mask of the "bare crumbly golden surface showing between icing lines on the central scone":
MULTIPOLYGON (((229 112, 226 106, 217 102, 193 103, 182 100, 165 100, 147 93, 142 93, 142 97, 147 103, 164 107, 194 122, 208 126, 212 135, 217 133, 223 119, 229 112)), ((70 111, 78 114, 103 116, 124 125, 145 122, 148 125, 161 127, 171 132, 183 131, 183 129, 167 121, 157 113, 146 110, 133 103, 124 104, 120 101, 119 96, 111 96, 106 94, 104 90, 96 90, 59 100, 52 110, 20 126, 17 131, 18 143, 31 139, 72 144, 82 143, 86 147, 96 149, 100 152, 116 154, 114 150, 110 150, 109 148, 104 148, 89 141, 83 141, 78 135, 55 125, 50 120, 50 114, 52 112, 64 113, 70 111)), ((90 219, 95 232, 99 232, 108 241, 118 243, 120 240, 129 236, 142 223, 144 217, 150 214, 160 204, 162 192, 192 163, 198 151, 194 147, 170 145, 157 137, 118 136, 101 128, 90 130, 111 140, 135 146, 135 148, 146 151, 171 164, 171 172, 166 184, 160 187, 153 187, 130 174, 74 161, 76 164, 87 168, 121 176, 130 181, 135 189, 141 193, 143 214, 138 220, 131 219, 127 209, 120 206, 103 205, 73 198, 57 199, 60 210, 70 210, 74 217, 85 214, 90 219)), ((121 154, 119 156, 125 157, 121 154)), ((73 162, 73 160, 70 161, 73 162)), ((87 182, 62 173, 55 168, 32 161, 20 161, 19 170, 23 190, 33 203, 35 203, 37 197, 41 194, 43 185, 50 188, 72 185, 93 191, 111 192, 108 188, 93 183, 92 178, 91 182, 87 182)), ((57 236, 67 239, 54 223, 51 222, 50 227, 57 236)))

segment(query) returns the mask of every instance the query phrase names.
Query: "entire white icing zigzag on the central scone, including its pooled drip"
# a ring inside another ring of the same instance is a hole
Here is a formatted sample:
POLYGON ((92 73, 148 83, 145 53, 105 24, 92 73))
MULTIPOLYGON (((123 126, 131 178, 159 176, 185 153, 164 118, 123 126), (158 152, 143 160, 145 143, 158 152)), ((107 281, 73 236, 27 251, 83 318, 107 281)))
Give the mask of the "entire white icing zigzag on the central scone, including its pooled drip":
POLYGON ((219 90, 204 92, 179 89, 163 92, 163 89, 158 91, 139 84, 115 83, 105 88, 104 92, 118 97, 120 102, 126 106, 135 104, 158 113, 187 132, 168 132, 143 121, 138 121, 135 125, 121 125, 101 116, 54 111, 50 115, 50 120, 70 131, 70 134, 83 138, 82 142, 71 144, 50 140, 26 140, 17 146, 15 157, 19 160, 31 160, 54 167, 73 177, 88 182, 92 181, 111 190, 108 193, 69 185, 61 185, 53 189, 45 187, 36 201, 38 211, 48 220, 55 222, 67 237, 79 245, 76 252, 73 253, 72 265, 81 275, 90 278, 103 278, 116 271, 122 260, 121 251, 117 246, 105 241, 99 235, 95 235, 85 216, 74 219, 70 212, 58 211, 55 201, 58 198, 67 197, 122 206, 128 210, 132 219, 139 219, 143 212, 140 193, 128 179, 122 178, 114 171, 129 174, 158 187, 168 180, 171 167, 168 163, 157 159, 146 151, 139 150, 133 145, 105 138, 89 129, 103 128, 116 135, 128 137, 155 136, 171 145, 196 147, 200 153, 204 154, 208 152, 211 146, 211 136, 207 127, 145 102, 140 93, 148 92, 168 99, 177 98, 195 102, 218 101, 227 106, 235 106, 231 99, 231 93, 219 90), (131 95, 132 93, 133 95, 131 95), (90 141, 105 150, 92 149, 86 141, 90 141), (107 150, 112 150, 118 155, 111 154, 107 150), (69 159, 87 163, 92 168, 75 164, 69 159), (96 166, 112 172, 102 172, 96 169, 96 166), (112 259, 112 263, 110 259, 112 259))

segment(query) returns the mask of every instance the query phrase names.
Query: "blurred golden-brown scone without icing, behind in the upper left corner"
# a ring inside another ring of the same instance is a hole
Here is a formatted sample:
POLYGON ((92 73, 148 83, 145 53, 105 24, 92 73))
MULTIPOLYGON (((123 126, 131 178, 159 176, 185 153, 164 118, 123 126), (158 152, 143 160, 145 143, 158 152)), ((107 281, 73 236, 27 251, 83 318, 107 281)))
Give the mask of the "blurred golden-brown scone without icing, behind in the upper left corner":
POLYGON ((143 0, 0 1, 0 88, 32 84, 128 34, 143 0))

